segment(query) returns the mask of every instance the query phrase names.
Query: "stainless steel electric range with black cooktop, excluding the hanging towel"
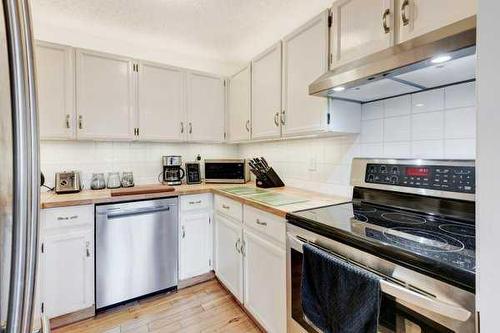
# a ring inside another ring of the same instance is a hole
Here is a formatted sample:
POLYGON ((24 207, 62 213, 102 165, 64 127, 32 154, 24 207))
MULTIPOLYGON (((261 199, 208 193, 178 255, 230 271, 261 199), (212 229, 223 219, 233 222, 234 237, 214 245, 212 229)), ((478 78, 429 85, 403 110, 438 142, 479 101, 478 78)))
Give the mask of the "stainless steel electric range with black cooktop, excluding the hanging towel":
POLYGON ((351 185, 350 202, 287 215, 292 332, 315 331, 301 315, 304 243, 381 277, 382 330, 474 331, 474 161, 354 159, 351 185))

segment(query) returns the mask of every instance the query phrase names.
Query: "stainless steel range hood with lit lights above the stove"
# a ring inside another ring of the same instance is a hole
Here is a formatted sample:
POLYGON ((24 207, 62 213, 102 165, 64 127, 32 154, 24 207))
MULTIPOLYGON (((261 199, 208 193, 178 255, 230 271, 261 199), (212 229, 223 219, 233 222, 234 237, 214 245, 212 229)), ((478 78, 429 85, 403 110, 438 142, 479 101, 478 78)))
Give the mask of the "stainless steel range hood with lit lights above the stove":
POLYGON ((472 16, 339 66, 309 85, 309 94, 364 103, 474 80, 475 45, 472 16))

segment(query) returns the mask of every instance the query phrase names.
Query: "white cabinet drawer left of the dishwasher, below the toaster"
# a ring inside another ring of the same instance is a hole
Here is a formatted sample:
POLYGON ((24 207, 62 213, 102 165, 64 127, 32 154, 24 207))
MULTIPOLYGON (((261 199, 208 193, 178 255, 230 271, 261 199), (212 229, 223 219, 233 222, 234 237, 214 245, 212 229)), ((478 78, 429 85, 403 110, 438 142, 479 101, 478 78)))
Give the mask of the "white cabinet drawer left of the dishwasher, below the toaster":
POLYGON ((91 227, 94 224, 94 205, 43 209, 41 217, 43 229, 91 227))

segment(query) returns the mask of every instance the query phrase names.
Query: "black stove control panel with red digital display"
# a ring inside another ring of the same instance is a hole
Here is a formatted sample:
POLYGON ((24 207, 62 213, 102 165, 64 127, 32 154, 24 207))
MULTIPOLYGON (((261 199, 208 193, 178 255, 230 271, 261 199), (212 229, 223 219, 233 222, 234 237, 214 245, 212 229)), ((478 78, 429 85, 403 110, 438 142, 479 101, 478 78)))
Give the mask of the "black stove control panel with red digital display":
POLYGON ((366 183, 475 193, 476 173, 470 166, 367 164, 366 183))

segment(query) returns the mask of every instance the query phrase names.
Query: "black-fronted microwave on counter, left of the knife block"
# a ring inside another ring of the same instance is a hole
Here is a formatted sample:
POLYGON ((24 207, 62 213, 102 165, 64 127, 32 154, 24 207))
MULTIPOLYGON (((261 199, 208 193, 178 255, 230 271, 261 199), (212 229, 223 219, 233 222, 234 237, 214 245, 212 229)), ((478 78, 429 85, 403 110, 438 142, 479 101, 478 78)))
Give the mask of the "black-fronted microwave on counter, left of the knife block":
POLYGON ((205 183, 245 184, 250 180, 247 160, 205 160, 205 183))

